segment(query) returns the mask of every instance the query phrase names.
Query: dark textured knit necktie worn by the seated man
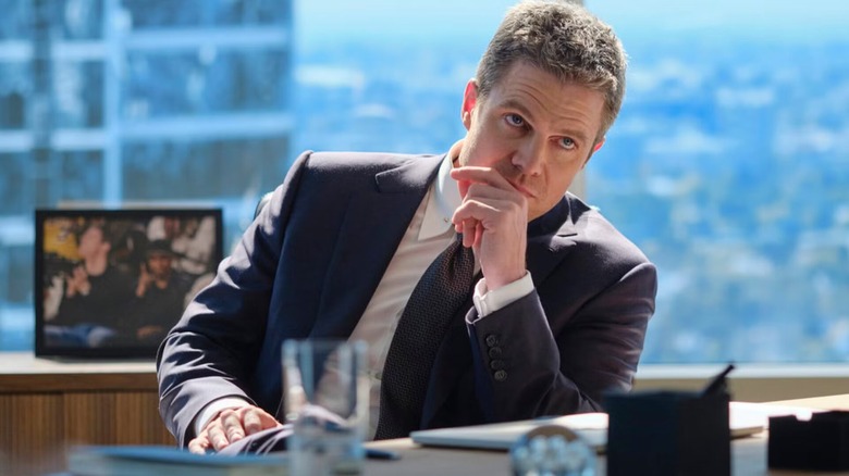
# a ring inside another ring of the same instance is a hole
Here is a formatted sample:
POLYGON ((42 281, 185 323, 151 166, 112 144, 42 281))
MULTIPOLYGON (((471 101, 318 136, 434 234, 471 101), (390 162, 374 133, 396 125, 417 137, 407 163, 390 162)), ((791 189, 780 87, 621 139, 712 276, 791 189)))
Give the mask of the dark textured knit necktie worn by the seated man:
POLYGON ((451 318, 468 298, 473 274, 475 255, 458 235, 421 275, 386 354, 374 439, 418 429, 431 366, 451 318))

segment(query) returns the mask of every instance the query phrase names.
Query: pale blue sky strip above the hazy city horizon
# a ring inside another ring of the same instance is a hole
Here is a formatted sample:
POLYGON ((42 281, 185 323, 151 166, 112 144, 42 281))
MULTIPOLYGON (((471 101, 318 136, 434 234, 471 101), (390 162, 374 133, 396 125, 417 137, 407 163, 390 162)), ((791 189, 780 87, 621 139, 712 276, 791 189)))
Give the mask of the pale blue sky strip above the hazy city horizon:
MULTIPOLYGON (((515 0, 295 0, 299 42, 376 34, 398 40, 489 38, 515 0)), ((849 34, 847 0, 586 0, 623 36, 647 32, 753 32, 758 36, 849 34), (635 32, 635 33, 632 33, 635 32)))

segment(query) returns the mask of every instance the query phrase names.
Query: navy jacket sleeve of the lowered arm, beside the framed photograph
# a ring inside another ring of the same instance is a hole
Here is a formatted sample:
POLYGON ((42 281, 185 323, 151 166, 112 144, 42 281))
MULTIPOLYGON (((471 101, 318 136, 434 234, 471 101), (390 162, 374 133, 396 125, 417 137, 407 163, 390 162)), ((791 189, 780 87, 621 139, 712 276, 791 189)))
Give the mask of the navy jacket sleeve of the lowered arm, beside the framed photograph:
POLYGON ((211 401, 254 402, 248 379, 264 335, 280 250, 309 160, 290 168, 267 206, 219 265, 213 281, 188 304, 157 354, 159 412, 181 446, 194 438, 193 422, 211 401))

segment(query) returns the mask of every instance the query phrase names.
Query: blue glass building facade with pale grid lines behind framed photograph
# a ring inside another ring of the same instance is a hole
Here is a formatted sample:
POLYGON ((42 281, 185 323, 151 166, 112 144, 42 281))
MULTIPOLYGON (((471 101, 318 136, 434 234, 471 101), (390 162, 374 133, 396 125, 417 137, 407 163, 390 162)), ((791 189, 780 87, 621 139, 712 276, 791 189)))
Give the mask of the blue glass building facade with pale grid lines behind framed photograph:
POLYGON ((292 2, 0 1, 0 350, 33 348, 33 211, 213 205, 292 154, 292 2))

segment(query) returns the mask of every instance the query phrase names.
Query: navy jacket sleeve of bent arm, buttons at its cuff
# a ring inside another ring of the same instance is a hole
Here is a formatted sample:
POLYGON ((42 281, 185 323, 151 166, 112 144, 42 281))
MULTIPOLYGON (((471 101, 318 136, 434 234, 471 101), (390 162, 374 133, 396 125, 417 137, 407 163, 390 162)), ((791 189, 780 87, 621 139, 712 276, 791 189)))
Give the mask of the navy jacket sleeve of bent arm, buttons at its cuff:
POLYGON ((561 298, 569 292, 552 291, 552 283, 569 279, 555 273, 543 300, 534 290, 485 318, 473 309, 467 316, 475 390, 489 422, 600 411, 605 391, 631 388, 654 312, 654 265, 639 262, 583 298, 561 298))

